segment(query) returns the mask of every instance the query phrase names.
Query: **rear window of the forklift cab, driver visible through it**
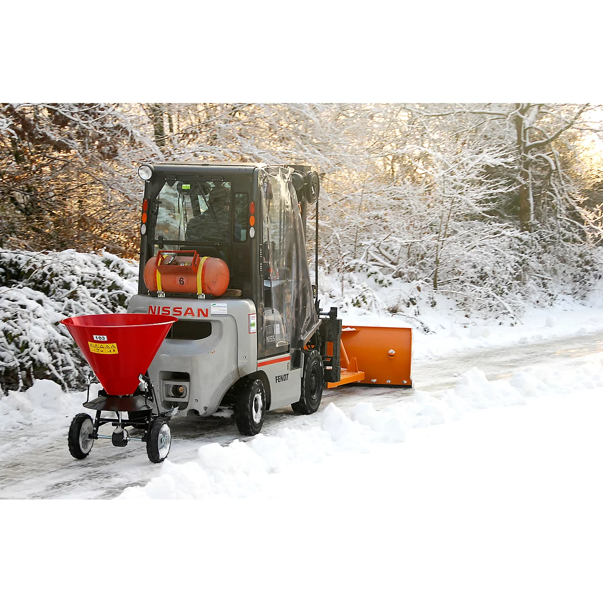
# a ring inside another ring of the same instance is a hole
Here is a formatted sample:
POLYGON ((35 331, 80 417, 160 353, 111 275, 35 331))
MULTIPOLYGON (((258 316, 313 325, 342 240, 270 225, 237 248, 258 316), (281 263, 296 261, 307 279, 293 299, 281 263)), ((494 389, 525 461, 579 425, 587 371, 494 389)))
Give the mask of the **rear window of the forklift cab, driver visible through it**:
MULTIPOLYGON (((192 242, 229 242, 232 183, 223 180, 165 182, 157 197, 155 238, 192 242)), ((236 228, 235 241, 246 235, 236 228)))

